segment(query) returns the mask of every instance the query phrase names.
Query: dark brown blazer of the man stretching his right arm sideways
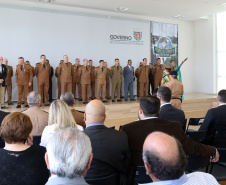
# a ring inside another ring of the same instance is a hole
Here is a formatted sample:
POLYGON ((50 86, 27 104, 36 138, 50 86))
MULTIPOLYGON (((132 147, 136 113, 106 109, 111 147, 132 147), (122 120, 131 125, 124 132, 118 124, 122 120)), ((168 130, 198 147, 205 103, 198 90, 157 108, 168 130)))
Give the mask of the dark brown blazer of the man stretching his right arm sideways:
POLYGON ((181 128, 181 124, 177 121, 171 122, 158 118, 139 120, 127 125, 123 125, 121 130, 124 131, 128 136, 131 153, 127 184, 132 181, 134 168, 137 165, 144 165, 142 160, 143 144, 146 137, 152 132, 160 131, 174 136, 181 142, 185 154, 189 156, 206 157, 215 156, 216 154, 216 149, 214 147, 192 141, 185 134, 181 128))

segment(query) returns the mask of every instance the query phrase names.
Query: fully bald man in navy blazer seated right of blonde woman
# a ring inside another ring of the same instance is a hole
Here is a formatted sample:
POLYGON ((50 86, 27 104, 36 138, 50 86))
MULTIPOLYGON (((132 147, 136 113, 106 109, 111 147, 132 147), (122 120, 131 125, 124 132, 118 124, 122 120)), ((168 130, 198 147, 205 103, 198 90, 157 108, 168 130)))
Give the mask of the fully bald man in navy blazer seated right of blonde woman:
POLYGON ((93 160, 86 179, 96 179, 120 174, 120 184, 126 184, 126 172, 129 165, 129 146, 124 132, 107 128, 105 106, 99 100, 90 101, 85 110, 84 120, 93 150, 93 160), (101 144, 101 145, 100 145, 101 144))

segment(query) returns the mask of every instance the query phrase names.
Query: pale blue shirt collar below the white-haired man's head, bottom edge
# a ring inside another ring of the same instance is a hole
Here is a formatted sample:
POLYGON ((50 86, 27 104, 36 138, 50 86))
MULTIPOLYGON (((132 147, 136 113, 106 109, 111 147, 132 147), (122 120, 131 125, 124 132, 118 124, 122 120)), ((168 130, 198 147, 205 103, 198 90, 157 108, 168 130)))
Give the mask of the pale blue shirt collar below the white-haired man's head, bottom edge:
POLYGON ((68 177, 50 177, 46 185, 88 185, 82 176, 77 176, 72 179, 68 177))

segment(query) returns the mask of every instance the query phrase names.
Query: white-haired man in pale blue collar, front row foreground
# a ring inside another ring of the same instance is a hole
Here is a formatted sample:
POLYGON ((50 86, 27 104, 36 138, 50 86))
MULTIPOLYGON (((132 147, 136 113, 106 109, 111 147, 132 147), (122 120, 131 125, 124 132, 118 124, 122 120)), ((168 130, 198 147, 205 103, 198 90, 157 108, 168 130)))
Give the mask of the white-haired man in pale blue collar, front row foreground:
POLYGON ((45 161, 51 172, 46 185, 88 185, 84 177, 92 161, 90 139, 76 128, 60 129, 47 143, 45 161))

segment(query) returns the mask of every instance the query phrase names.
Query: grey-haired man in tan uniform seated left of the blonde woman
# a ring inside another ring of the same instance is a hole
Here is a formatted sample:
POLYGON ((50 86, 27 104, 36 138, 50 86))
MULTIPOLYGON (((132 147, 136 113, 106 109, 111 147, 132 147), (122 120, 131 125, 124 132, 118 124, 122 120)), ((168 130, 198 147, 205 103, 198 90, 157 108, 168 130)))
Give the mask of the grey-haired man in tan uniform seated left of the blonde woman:
POLYGON ((27 95, 27 102, 29 108, 23 111, 23 113, 31 119, 33 125, 31 135, 41 136, 44 128, 48 125, 49 114, 40 109, 42 102, 41 95, 38 92, 29 92, 27 95))

